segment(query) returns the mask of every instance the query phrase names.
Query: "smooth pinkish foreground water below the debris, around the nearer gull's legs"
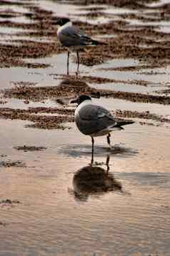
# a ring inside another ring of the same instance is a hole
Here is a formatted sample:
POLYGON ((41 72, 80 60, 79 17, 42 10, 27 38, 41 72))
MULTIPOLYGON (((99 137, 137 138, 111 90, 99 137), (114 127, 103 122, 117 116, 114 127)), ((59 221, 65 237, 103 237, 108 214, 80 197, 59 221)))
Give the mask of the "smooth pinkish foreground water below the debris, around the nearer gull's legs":
POLYGON ((160 128, 131 125, 115 133, 112 151, 104 138, 96 138, 94 162, 106 173, 106 156, 110 156, 109 175, 116 188, 95 191, 96 178, 91 191, 81 180, 82 168, 91 162, 90 138, 77 133, 74 125, 69 131, 41 132, 23 129, 23 125, 10 120, 1 125, 6 130, 1 153, 26 163, 25 168, 1 168, 1 198, 21 202, 0 208, 1 222, 6 222, 1 228, 1 255, 166 255, 170 207, 167 129, 161 128, 160 133, 160 128), (13 148, 25 144, 47 149, 23 153, 13 148))

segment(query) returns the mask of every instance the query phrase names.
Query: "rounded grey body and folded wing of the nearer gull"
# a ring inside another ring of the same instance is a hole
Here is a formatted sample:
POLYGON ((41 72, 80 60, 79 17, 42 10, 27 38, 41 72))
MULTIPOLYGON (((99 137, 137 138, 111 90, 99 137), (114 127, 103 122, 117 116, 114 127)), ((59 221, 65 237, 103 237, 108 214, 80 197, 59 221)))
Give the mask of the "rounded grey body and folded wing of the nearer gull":
POLYGON ((85 105, 84 108, 81 108, 79 115, 75 117, 75 121, 79 130, 86 135, 116 125, 114 117, 108 110, 95 105, 85 105))

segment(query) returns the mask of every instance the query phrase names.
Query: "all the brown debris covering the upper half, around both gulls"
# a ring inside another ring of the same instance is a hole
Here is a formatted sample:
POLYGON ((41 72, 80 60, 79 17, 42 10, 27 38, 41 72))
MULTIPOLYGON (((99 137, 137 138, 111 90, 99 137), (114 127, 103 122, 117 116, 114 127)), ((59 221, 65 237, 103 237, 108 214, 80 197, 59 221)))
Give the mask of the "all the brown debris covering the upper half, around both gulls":
MULTIPOLYGON (((62 2, 62 1, 61 1, 62 2)), ((67 2, 67 1, 65 1, 67 2)), ((82 9, 85 7, 85 1, 68 1, 71 4, 82 4, 82 9)), ((89 35, 96 37, 101 36, 101 41, 106 44, 99 45, 99 47, 88 48, 86 52, 81 52, 80 60, 84 65, 96 65, 106 60, 113 60, 115 58, 133 58, 138 60, 139 64, 135 67, 118 67, 120 71, 139 71, 144 69, 153 69, 154 67, 166 67, 170 64, 170 34, 161 32, 159 27, 156 26, 144 26, 144 25, 131 25, 128 20, 136 19, 144 22, 158 22, 167 21, 170 18, 169 6, 170 4, 163 4, 162 6, 147 6, 147 4, 153 2, 151 0, 145 1, 129 1, 129 0, 87 0, 88 4, 110 4, 119 7, 126 7, 128 9, 148 9, 152 11, 152 15, 139 14, 117 14, 116 20, 113 20, 104 24, 89 24, 86 22, 75 21, 74 24, 80 29, 83 29, 89 35), (156 15, 153 15, 156 14, 156 15), (114 35, 114 37, 108 37, 102 39, 102 35, 114 35)), ((47 11, 39 6, 36 6, 34 1, 1 1, 0 5, 13 4, 24 6, 27 12, 20 13, 19 11, 11 11, 6 9, 0 11, 1 27, 13 27, 23 29, 21 32, 16 32, 16 36, 24 36, 27 39, 12 39, 8 44, 0 42, 0 67, 49 67, 49 65, 29 62, 28 58, 39 58, 50 56, 51 54, 57 54, 66 51, 64 47, 61 47, 59 41, 56 38, 56 28, 52 25, 52 22, 56 17, 52 11, 47 11), (19 23, 6 20, 6 17, 18 17, 23 16, 28 19, 28 22, 19 23), (4 19, 4 20, 3 20, 4 19), (26 31, 24 31, 26 29, 26 31), (34 30, 34 31, 33 31, 34 30), (34 40, 34 37, 39 37, 39 41, 34 40), (26 59, 26 60, 24 60, 26 59)), ((102 7, 103 8, 103 7, 102 7)), ((88 16, 103 15, 102 9, 89 9, 88 16)), ((2 36, 5 34, 2 34, 2 36)), ((97 39, 97 38, 96 38, 97 39)), ((113 69, 113 70, 116 70, 113 69)), ((96 90, 89 86, 93 83, 126 83, 129 85, 141 85, 147 86, 149 82, 140 80, 114 80, 101 77, 88 77, 83 76, 79 79, 69 76, 63 77, 64 80, 59 86, 44 86, 34 87, 35 83, 30 84, 26 82, 20 82, 15 84, 9 90, 4 90, 3 97, 0 104, 0 118, 21 119, 28 120, 27 127, 34 128, 61 128, 64 129, 65 123, 72 122, 74 120, 74 109, 66 108, 64 104, 61 104, 62 108, 28 108, 26 110, 3 108, 6 101, 9 98, 17 98, 23 100, 25 104, 29 105, 30 101, 42 102, 43 100, 52 99, 56 102, 63 102, 64 98, 75 98, 82 93, 91 95, 92 93, 99 92, 101 97, 105 98, 118 98, 122 100, 129 100, 131 102, 139 103, 156 103, 169 105, 170 98, 167 93, 164 95, 150 95, 142 93, 128 93, 114 90, 96 90), (42 115, 43 113, 43 115, 42 115), (49 115, 52 114, 52 115, 49 115)), ((55 79, 55 78, 54 78, 55 79)), ((121 113, 119 113, 121 117, 121 113)), ((132 115, 132 114, 131 114, 132 115)), ((132 117, 134 118, 134 117, 132 117)), ((146 118, 146 115, 144 115, 146 118)), ((147 119, 147 118, 146 118, 147 119)))

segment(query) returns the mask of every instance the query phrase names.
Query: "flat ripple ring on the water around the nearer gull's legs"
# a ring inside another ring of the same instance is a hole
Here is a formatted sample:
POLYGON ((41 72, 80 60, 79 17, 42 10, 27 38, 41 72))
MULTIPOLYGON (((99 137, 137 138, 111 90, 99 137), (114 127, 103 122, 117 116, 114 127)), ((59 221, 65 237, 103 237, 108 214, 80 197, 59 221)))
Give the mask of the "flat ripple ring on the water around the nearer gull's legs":
MULTIPOLYGON (((59 153, 64 153, 64 155, 72 156, 74 158, 81 156, 89 156, 91 155, 91 145, 64 145, 58 149, 59 153)), ((94 156, 119 156, 119 157, 129 157, 134 156, 138 153, 136 149, 127 148, 124 144, 115 144, 111 148, 104 146, 95 146, 94 148, 94 156)))

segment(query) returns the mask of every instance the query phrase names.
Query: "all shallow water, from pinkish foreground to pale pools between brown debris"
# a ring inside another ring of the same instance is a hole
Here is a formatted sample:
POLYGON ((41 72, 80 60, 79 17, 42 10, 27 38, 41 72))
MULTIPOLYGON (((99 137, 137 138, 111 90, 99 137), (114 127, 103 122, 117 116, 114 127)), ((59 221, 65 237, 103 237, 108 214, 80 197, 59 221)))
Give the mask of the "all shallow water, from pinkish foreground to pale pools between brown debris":
MULTIPOLYGON (((62 15, 69 11, 71 16, 80 7, 66 8, 54 1, 41 1, 41 4, 46 9, 60 6, 56 14, 62 10, 62 15)), ((14 82, 21 81, 36 82, 35 86, 59 85, 61 75, 66 74, 66 54, 31 61, 51 67, 1 69, 1 89, 14 87, 14 82)), ((80 65, 80 74, 152 83, 147 87, 90 84, 137 93, 151 93, 169 82, 169 67, 155 69, 158 75, 142 74, 143 70, 107 70, 136 65, 139 63, 133 59, 111 60, 92 68, 80 65)), ((75 70, 76 64, 71 60, 71 75, 75 70)), ((30 100, 29 105, 23 100, 7 101, 3 107, 57 106, 54 100, 44 103, 30 100)), ((109 110, 149 110, 170 118, 169 105, 112 98, 94 99, 94 102, 109 110)), ((0 165, 0 202, 3 199, 20 202, 0 204, 0 255, 169 255, 168 125, 140 125, 136 120, 124 131, 112 133, 111 150, 106 138, 95 138, 91 166, 91 138, 81 135, 74 123, 66 123, 71 129, 64 131, 26 128, 29 123, 1 119, 0 163, 21 161, 25 167, 0 165), (14 148, 24 145, 44 146, 46 150, 25 152, 14 148)))

